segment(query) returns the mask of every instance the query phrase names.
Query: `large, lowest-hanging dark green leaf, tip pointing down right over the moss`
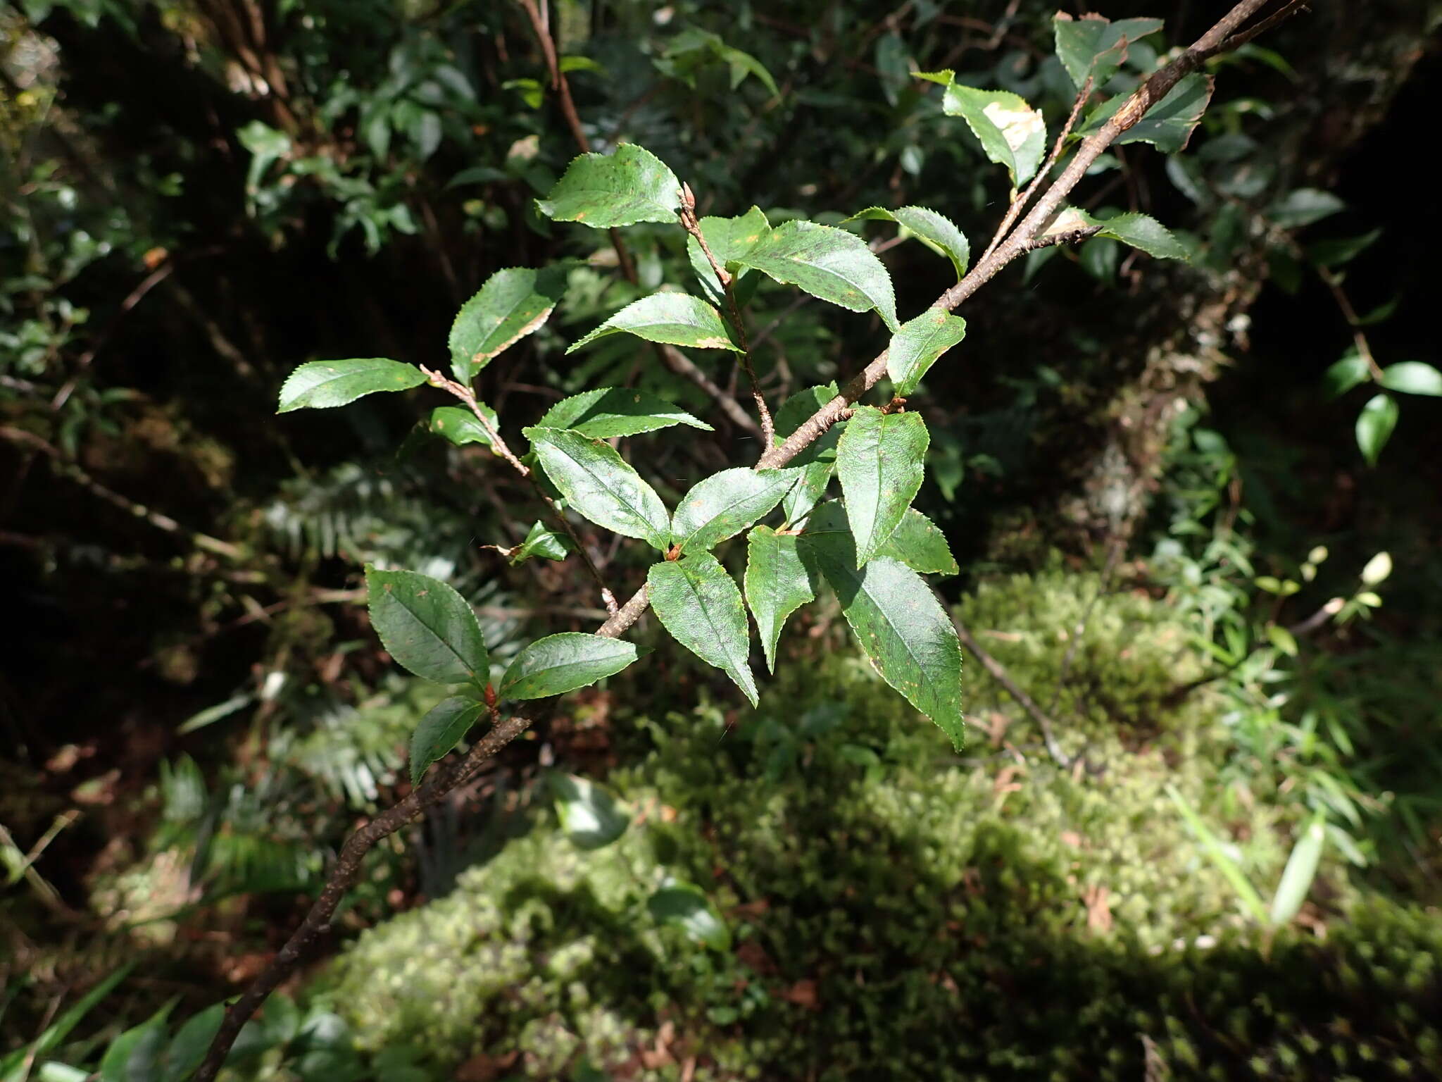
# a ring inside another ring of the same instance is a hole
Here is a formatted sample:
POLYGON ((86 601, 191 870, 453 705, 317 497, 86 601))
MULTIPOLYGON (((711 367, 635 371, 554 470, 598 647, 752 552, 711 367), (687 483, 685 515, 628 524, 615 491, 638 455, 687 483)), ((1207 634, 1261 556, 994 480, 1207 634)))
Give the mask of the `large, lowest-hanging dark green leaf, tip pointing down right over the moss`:
POLYGON ((808 522, 799 551, 836 591, 846 623, 881 678, 960 750, 962 645, 921 576, 885 555, 858 570, 846 524, 829 503, 808 522))

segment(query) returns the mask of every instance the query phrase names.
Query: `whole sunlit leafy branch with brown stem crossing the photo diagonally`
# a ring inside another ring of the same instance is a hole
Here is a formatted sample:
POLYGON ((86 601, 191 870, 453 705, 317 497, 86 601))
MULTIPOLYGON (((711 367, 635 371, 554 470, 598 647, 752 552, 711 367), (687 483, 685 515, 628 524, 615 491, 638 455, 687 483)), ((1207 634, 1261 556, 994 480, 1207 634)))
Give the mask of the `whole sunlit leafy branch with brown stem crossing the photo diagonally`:
MULTIPOLYGON (((522 6, 536 12, 528 0, 522 6)), ((430 414, 430 431, 454 444, 485 446, 535 495, 539 518, 525 537, 487 541, 513 563, 580 560, 607 619, 591 635, 559 632, 519 648, 487 643, 476 613, 446 583, 405 568, 366 567, 371 622, 386 652, 450 691, 411 736, 411 793, 346 841, 300 928, 224 1020, 205 1016, 218 1030, 196 1078, 216 1076, 245 1021, 329 928, 376 841, 472 779, 544 716, 555 697, 649 664, 642 661, 645 649, 623 638, 646 609, 756 705, 760 687, 750 664, 747 610, 766 665, 774 668, 789 617, 831 591, 883 679, 960 749, 960 641, 924 579, 955 571, 956 563, 943 534, 911 506, 930 444, 913 400, 927 371, 966 335, 955 309, 1012 261, 1092 238, 1156 258, 1188 257, 1188 245, 1154 218, 1092 215, 1071 202, 1071 193, 1109 147, 1144 141, 1162 153, 1180 151, 1211 98, 1206 62, 1301 9, 1289 0, 1257 19, 1269 6, 1268 0, 1236 4, 1165 62, 1154 61, 1146 49, 1149 62, 1142 71, 1128 65, 1129 50, 1158 33, 1159 20, 1057 14, 1056 53, 1076 98, 1067 117, 1053 118, 1050 131, 1043 113, 1017 94, 965 85, 952 71, 914 72, 943 88, 943 113, 960 117, 985 157, 1005 173, 1008 209, 989 241, 978 245, 975 260, 960 229, 926 206, 864 208, 836 225, 805 219, 773 225, 757 206, 733 216, 698 215, 689 185, 656 154, 636 144, 620 144, 611 154, 590 153, 584 131, 572 124, 583 153, 535 202, 536 215, 610 231, 622 268, 629 265, 622 231, 672 225, 682 231, 695 281, 689 293, 663 286, 623 307, 568 352, 616 335, 640 339, 646 345, 637 348, 659 351, 672 371, 688 374, 733 420, 735 403, 679 351, 734 356, 750 385, 754 418, 737 427, 760 434, 760 454, 712 472, 669 506, 658 491, 666 488, 658 472, 645 476, 632 462, 636 449, 622 441, 672 426, 708 430, 707 420, 630 387, 594 387, 539 417, 503 420, 473 390, 487 364, 542 327, 565 302, 574 264, 513 267, 492 276, 457 315, 444 368, 389 358, 314 361, 297 368, 280 391, 280 413, 339 407, 424 385, 446 392, 454 404, 430 414), (861 235, 862 222, 872 221, 895 226, 952 264, 955 284, 923 312, 897 310, 887 267, 861 235), (890 335, 887 349, 846 382, 808 388, 773 410, 754 371, 747 326, 747 303, 761 278, 857 313, 844 320, 880 320, 890 335), (864 403, 877 388, 877 400, 864 403), (652 550, 645 583, 623 603, 603 576, 581 522, 652 550), (741 545, 725 547, 743 534, 744 570, 741 545), (492 665, 490 649, 499 645, 510 655, 503 671, 492 665), (482 731, 473 736, 477 726, 482 731), (464 753, 448 759, 467 740, 464 753)), ((552 75, 564 87, 564 71, 552 75)), ((562 107, 574 113, 564 92, 562 107)), ((737 457, 748 449, 754 444, 735 441, 737 457)), ((652 907, 666 915, 668 906, 681 902, 662 897, 652 907)), ((695 900, 688 906, 694 913, 705 909, 695 900)))

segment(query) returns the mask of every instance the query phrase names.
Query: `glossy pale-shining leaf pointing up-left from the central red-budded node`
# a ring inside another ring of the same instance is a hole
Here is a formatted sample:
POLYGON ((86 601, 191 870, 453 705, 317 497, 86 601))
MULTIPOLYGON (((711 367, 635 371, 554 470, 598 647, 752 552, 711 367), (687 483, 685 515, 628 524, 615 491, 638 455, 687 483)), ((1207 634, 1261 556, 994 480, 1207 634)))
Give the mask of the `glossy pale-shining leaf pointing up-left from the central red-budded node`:
POLYGON ((671 516, 656 489, 616 449, 565 428, 525 430, 541 467, 565 502, 598 527, 665 550, 671 516))

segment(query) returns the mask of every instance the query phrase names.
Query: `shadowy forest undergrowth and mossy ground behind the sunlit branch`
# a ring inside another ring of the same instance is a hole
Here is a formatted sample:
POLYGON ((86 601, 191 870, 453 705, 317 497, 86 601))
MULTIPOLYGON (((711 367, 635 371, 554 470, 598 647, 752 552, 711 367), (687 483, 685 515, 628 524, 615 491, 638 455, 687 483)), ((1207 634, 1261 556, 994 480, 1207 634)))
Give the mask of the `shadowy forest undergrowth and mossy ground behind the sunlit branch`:
MULTIPOLYGON (((1167 20, 1119 88, 1214 17, 1100 7, 1167 20)), ((547 12, 593 147, 645 144, 702 214, 923 203, 978 247, 1005 192, 910 71, 1053 126, 1070 105, 1032 0, 547 12)), ((1347 375, 1438 361, 1415 163, 1439 13, 1318 0, 1214 65, 1184 153, 1099 163, 1089 209, 1161 218, 1190 265, 1093 239, 968 304, 916 398, 920 501, 962 566, 945 599, 1034 711, 968 656, 955 756, 826 616, 783 642, 784 708, 658 654, 663 679, 572 697, 381 847, 339 961, 267 1007, 235 1076, 1442 1072, 1442 403, 1396 395, 1379 447, 1354 433, 1377 388, 1347 375), (577 847, 567 802, 611 799, 620 840, 577 847), (1257 920, 1247 884, 1270 899, 1314 822, 1305 903, 1257 920)), ((529 493, 428 431, 440 398, 291 423, 286 372, 434 364, 489 274, 575 257, 482 377, 502 426, 624 384, 718 428, 647 437, 668 498, 754 454, 624 336, 562 355, 689 270, 675 229, 627 231, 622 268, 534 212, 575 143, 513 3, 23 0, 0 107, 0 1076, 63 1081, 153 1016, 182 1062, 180 1021, 405 791, 433 692, 381 654, 366 560, 453 583, 500 661, 604 616, 570 563, 485 548, 525 537, 529 493)), ((855 228, 903 309, 947 284, 855 228)), ((751 310, 773 403, 885 343, 769 284, 751 310)), ((630 550, 597 560, 640 581, 630 550)))

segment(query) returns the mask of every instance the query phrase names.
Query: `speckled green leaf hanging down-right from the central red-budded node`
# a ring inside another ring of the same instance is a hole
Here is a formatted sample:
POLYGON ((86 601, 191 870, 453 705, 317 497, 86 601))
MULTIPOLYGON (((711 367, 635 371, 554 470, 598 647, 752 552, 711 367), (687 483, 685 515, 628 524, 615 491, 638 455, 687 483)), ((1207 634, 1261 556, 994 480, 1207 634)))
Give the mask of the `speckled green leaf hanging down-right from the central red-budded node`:
POLYGON ((722 669, 757 704, 747 664, 750 629, 741 591, 709 553, 653 564, 646 574, 650 606, 672 638, 708 665, 722 669))

